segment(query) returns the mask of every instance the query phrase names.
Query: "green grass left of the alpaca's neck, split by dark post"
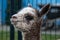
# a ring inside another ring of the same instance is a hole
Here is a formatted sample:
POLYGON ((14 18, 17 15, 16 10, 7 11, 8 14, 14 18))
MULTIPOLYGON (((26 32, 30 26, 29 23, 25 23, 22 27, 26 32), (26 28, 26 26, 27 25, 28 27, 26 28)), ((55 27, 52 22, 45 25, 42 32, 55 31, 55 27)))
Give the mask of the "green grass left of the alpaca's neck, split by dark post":
MULTIPOLYGON (((17 32, 15 32, 14 38, 15 38, 14 40, 18 40, 17 32)), ((1 31, 0 32, 0 40, 10 40, 10 32, 1 31)))

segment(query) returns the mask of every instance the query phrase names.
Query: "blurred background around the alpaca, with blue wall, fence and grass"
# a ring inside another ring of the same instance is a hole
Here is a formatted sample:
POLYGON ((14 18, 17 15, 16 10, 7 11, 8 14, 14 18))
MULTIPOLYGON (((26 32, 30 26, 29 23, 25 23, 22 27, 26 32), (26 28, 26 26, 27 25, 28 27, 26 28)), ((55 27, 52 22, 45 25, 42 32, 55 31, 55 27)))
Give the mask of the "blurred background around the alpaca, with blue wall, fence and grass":
POLYGON ((0 0, 0 40, 22 40, 21 32, 10 24, 10 18, 29 3, 37 10, 50 3, 50 11, 43 16, 42 40, 60 40, 60 0, 0 0))

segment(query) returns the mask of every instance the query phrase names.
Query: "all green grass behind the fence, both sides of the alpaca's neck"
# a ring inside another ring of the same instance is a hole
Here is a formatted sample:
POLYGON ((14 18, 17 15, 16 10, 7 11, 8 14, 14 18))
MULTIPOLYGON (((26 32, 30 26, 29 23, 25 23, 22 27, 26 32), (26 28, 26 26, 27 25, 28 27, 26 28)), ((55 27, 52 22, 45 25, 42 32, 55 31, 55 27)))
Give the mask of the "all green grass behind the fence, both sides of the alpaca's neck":
MULTIPOLYGON (((18 40, 18 34, 15 32, 15 40, 18 40)), ((42 34, 42 40, 57 40, 60 35, 42 34)), ((10 40, 10 32, 0 31, 0 40, 10 40)))

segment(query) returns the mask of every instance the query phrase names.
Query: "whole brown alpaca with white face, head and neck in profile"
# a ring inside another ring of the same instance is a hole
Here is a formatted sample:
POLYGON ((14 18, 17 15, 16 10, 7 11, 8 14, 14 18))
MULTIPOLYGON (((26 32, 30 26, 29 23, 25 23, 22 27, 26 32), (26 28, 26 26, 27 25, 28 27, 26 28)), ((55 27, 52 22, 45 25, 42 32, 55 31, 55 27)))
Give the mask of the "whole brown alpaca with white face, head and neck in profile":
POLYGON ((41 40, 42 16, 47 14, 50 7, 50 4, 47 4, 38 11, 28 6, 12 15, 11 24, 22 32, 23 40, 41 40))

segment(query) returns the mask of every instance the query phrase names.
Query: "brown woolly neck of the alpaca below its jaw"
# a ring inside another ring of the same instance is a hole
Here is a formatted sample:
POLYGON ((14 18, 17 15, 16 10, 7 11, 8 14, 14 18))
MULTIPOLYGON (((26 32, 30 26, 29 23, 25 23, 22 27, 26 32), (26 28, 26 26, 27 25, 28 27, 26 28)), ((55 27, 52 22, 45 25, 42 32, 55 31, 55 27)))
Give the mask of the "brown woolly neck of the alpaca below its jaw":
POLYGON ((40 40, 40 29, 22 32, 23 40, 40 40))

